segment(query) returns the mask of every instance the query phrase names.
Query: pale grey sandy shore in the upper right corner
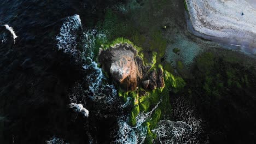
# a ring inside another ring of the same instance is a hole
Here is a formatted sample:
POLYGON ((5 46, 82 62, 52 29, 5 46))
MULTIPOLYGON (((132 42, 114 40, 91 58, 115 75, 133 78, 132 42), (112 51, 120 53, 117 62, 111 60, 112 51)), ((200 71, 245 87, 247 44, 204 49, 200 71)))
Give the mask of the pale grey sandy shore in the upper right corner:
POLYGON ((186 0, 195 31, 256 54, 256 1, 186 0))

